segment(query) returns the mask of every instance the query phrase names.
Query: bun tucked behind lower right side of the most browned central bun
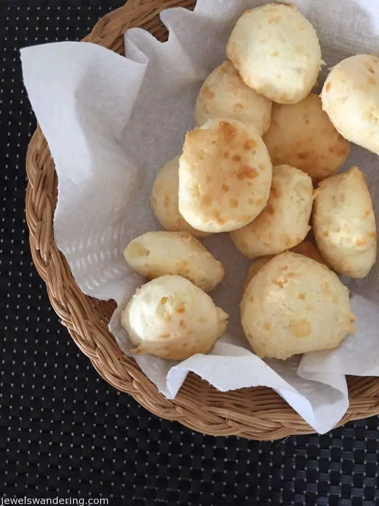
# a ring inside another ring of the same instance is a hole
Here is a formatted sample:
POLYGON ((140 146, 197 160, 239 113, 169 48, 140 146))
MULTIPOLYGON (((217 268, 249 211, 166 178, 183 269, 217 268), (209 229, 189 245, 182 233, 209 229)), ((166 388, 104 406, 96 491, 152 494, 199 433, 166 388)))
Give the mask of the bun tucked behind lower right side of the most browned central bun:
POLYGON ((267 206, 251 223, 231 232, 231 239, 248 258, 286 251, 309 232, 312 203, 308 174, 290 165, 273 167, 267 206))

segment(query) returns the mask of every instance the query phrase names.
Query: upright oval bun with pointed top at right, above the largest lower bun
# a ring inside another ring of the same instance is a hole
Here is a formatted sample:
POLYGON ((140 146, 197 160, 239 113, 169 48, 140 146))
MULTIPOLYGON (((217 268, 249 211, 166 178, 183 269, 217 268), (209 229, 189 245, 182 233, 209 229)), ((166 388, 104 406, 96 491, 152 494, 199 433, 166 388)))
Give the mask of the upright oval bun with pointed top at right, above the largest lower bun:
POLYGON ((313 232, 322 257, 337 272, 364 278, 376 261, 370 193, 358 167, 332 176, 315 191, 313 232))

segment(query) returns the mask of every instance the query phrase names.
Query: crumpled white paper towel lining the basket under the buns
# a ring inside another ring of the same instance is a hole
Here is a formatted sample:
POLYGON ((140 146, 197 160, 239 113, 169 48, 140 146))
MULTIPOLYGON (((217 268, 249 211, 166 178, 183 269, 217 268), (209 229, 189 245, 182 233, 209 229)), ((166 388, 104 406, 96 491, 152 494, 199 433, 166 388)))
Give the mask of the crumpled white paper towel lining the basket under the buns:
MULTIPOLYGON (((116 300, 110 328, 126 354, 129 341, 120 311, 144 280, 125 264, 123 249, 137 235, 160 229, 149 205, 155 175, 179 153, 192 128, 195 97, 225 59, 233 23, 246 8, 262 3, 198 0, 194 12, 166 10, 161 18, 168 41, 160 43, 139 28, 128 30, 126 58, 89 43, 46 44, 21 52, 25 86, 58 173, 57 245, 84 293, 116 300)), ((297 4, 318 31, 327 66, 351 54, 379 52, 379 3, 297 4)), ((358 164, 365 172, 376 216, 378 160, 354 146, 345 166, 358 164)), ((317 432, 333 428, 348 407, 345 374, 379 375, 378 266, 365 280, 344 279, 354 293, 357 332, 337 350, 262 361, 251 352, 239 317, 248 261, 228 234, 204 244, 226 269, 212 297, 230 315, 227 332, 209 355, 181 363, 140 356, 141 369, 168 398, 175 397, 188 371, 221 391, 265 385, 317 432)))

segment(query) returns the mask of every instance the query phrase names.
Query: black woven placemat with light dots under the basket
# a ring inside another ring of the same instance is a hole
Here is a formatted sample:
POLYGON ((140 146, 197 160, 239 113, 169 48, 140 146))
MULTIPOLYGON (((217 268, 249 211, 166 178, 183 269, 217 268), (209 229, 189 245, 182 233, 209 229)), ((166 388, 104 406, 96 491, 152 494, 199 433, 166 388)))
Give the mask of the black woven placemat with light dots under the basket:
POLYGON ((59 496, 148 506, 379 504, 377 418, 281 443, 194 433, 109 387, 50 308, 24 219, 35 121, 19 48, 79 39, 121 4, 0 0, 0 503, 59 496))

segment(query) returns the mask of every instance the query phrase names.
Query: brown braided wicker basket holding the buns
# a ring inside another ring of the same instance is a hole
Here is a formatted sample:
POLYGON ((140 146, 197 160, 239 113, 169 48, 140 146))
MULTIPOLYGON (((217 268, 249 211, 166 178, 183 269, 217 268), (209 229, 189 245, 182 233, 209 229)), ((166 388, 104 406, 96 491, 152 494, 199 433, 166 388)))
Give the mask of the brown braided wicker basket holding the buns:
MULTIPOLYGON (((159 20, 160 11, 174 6, 193 9, 194 5, 194 0, 129 0, 124 7, 102 18, 84 40, 123 54, 123 33, 127 28, 140 26, 164 40, 167 31, 159 20)), ((62 323, 108 383, 133 396, 152 413, 214 436, 272 440, 313 432, 268 388, 221 393, 189 374, 176 398, 165 399, 137 364, 123 355, 110 334, 107 324, 115 304, 85 296, 57 249, 53 235, 57 178, 48 144, 39 129, 29 145, 26 170, 29 178, 26 218, 34 264, 62 323)), ((348 384, 350 407, 341 424, 379 413, 379 378, 350 377, 348 384)))

